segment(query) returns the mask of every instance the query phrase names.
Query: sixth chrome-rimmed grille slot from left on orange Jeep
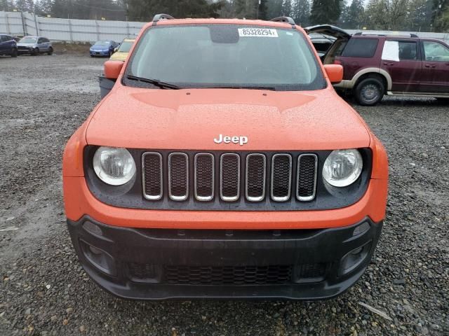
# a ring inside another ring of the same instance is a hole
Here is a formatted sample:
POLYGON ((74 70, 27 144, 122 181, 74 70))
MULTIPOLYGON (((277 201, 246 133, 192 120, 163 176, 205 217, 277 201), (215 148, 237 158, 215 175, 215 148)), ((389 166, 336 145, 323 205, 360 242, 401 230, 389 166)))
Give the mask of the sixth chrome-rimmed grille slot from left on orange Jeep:
POLYGON ((275 154, 272 158, 272 200, 285 202, 290 198, 292 183, 292 157, 275 154))

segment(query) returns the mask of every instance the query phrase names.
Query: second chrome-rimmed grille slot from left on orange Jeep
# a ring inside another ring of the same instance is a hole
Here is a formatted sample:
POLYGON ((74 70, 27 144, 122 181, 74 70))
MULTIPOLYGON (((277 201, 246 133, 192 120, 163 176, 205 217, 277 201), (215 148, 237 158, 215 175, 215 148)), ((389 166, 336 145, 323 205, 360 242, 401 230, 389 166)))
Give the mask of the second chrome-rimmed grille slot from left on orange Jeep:
POLYGON ((168 194, 174 201, 189 197, 189 157, 185 153, 168 155, 168 194))

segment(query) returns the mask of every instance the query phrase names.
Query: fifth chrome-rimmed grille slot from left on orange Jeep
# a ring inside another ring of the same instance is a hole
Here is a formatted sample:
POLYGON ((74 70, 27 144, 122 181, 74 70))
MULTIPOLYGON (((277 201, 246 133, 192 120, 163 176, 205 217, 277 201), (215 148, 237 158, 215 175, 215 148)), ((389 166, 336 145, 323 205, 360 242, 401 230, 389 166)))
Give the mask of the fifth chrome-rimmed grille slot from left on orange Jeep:
POLYGON ((265 198, 267 158, 263 154, 246 156, 246 200, 260 202, 265 198))

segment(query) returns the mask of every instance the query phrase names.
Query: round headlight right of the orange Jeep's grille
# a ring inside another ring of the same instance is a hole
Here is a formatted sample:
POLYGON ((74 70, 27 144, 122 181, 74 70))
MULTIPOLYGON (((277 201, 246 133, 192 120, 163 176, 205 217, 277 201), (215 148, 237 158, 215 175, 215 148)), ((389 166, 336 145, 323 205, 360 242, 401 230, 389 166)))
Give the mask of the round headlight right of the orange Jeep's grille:
POLYGON ((347 187, 360 176, 363 159, 356 149, 330 153, 323 166, 323 179, 334 187, 347 187))

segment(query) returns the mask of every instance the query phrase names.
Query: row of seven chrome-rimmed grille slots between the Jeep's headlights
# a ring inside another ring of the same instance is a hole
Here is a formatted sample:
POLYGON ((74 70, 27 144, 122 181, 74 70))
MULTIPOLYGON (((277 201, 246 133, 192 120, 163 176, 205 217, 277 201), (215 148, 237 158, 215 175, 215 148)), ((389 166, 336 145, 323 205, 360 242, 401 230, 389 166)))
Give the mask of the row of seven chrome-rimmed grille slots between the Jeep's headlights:
POLYGON ((142 189, 147 200, 201 201, 205 209, 214 202, 243 200, 257 207, 267 200, 280 205, 311 201, 316 196, 317 172, 314 153, 142 155, 142 189))

